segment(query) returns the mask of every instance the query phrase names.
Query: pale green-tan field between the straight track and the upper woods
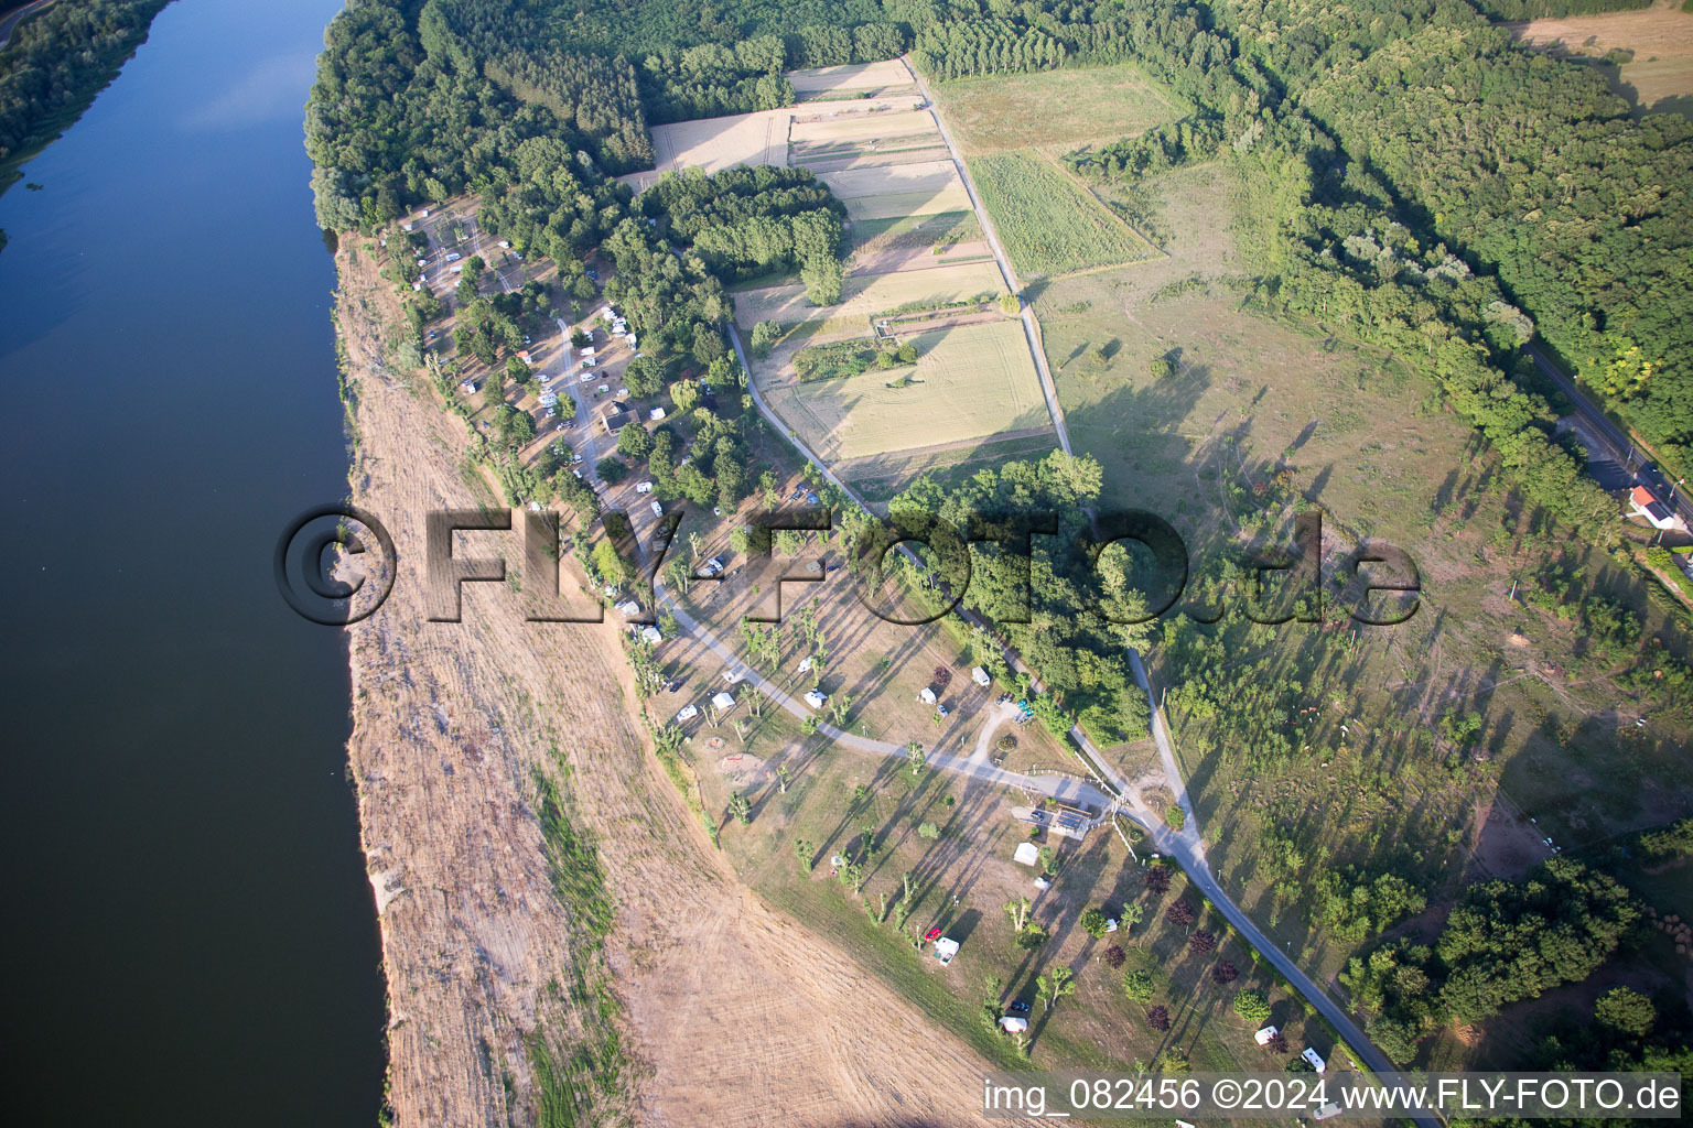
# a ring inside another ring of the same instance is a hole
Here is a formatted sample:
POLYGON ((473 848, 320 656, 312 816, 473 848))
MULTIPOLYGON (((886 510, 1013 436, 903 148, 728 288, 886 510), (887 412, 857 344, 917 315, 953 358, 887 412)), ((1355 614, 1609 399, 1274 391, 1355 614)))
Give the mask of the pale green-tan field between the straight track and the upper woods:
POLYGON ((1046 151, 1075 149, 1188 113, 1133 64, 962 78, 938 83, 935 98, 965 156, 1026 149, 1031 140, 1046 151))

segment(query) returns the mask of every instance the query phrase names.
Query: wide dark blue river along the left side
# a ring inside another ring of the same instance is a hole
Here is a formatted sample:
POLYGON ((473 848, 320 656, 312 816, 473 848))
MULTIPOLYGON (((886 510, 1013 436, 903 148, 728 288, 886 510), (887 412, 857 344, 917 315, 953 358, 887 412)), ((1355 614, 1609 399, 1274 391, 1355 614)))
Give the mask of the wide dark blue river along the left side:
POLYGON ((376 1123, 345 496, 301 107, 339 0, 178 0, 0 200, 0 1094, 14 1125, 376 1123))

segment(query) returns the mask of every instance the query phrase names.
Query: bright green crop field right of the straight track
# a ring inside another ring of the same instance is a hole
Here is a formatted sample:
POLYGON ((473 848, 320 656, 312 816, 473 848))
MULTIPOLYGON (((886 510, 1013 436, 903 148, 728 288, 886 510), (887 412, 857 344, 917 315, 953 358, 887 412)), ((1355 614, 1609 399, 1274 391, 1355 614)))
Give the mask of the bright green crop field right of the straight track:
POLYGON ((972 157, 970 176, 1019 274, 1070 274, 1156 254, 1133 227, 1033 152, 972 157))

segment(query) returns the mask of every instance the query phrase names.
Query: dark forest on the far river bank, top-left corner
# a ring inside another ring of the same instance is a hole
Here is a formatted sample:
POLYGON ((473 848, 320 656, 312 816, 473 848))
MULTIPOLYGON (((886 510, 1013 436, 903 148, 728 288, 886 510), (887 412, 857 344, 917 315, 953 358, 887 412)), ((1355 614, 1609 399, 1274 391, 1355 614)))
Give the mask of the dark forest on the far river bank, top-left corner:
POLYGON ((17 179, 22 161, 58 137, 117 78, 166 3, 54 3, 14 29, 12 42, 0 51, 0 191, 17 179))

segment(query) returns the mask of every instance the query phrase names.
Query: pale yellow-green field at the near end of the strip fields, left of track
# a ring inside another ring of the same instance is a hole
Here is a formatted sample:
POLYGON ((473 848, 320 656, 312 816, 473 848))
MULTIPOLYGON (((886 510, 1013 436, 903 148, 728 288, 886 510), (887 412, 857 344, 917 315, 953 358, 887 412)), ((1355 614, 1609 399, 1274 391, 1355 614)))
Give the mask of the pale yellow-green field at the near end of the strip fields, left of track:
POLYGON ((911 337, 914 369, 770 389, 775 411, 824 458, 1029 431, 1050 421, 1023 326, 965 325, 911 337), (891 387, 909 377, 904 387, 891 387))

